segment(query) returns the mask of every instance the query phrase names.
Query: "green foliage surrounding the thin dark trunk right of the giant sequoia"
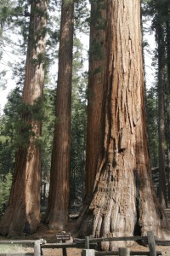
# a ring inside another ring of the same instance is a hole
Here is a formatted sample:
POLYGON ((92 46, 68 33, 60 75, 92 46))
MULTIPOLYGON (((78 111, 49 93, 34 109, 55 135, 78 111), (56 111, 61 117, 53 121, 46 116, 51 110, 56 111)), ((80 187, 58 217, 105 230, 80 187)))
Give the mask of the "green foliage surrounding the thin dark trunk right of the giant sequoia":
MULTIPOLYGON (((169 147, 169 93, 170 86, 168 78, 170 77, 170 55, 168 43, 168 24, 170 21, 169 7, 170 3, 167 0, 148 0, 143 1, 143 15, 150 17, 151 30, 156 35, 156 50, 153 58, 153 67, 156 68, 156 85, 147 92, 147 115, 148 115, 148 135, 150 146, 150 160, 152 166, 158 165, 158 104, 157 94, 159 88, 164 90, 164 110, 167 133, 167 145, 169 147), (159 60, 159 61, 158 61, 159 60)), ((169 148, 167 148, 169 150, 169 148)), ((167 150, 167 151, 168 151, 167 150)), ((165 156, 168 159, 168 154, 165 156)), ((168 162, 168 161, 167 161, 168 162)))

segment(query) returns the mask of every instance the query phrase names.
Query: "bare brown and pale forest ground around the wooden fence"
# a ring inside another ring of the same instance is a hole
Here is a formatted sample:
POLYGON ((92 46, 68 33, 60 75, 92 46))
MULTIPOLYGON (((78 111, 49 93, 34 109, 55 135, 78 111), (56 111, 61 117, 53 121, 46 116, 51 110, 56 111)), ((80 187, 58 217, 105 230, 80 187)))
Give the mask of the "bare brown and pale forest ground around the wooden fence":
MULTIPOLYGON (((170 208, 166 210, 168 218, 170 218, 170 208)), ((68 226, 68 230, 73 230, 74 223, 71 223, 68 226)), ((48 230, 48 227, 44 224, 41 224, 36 233, 32 235, 26 235, 22 237, 13 238, 13 240, 37 240, 44 239, 47 242, 56 242, 56 230, 48 230)), ((7 240, 6 237, 0 236, 0 240, 7 240)), ((132 247, 130 247, 131 251, 149 251, 148 247, 144 247, 139 245, 138 243, 134 243, 132 247)), ((19 245, 0 245, 0 255, 1 253, 33 253, 33 247, 19 246, 19 245)), ((156 251, 161 251, 162 256, 170 256, 170 246, 156 246, 156 251)), ((42 249, 43 256, 62 256, 62 249, 42 249)), ((81 256, 82 249, 81 248, 68 248, 67 256, 81 256)), ((20 255, 20 254, 19 254, 20 255)), ((27 254, 28 255, 28 254, 27 254)))

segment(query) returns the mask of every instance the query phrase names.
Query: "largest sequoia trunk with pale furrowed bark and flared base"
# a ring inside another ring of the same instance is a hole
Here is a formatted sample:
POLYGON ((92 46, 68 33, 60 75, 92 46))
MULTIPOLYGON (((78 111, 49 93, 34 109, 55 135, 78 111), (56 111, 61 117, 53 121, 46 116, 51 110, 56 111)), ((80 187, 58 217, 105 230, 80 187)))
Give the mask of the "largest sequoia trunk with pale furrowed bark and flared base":
MULTIPOLYGON (((152 186, 145 127, 140 3, 108 0, 106 6, 102 158, 79 235, 133 236, 152 230, 164 237, 167 218, 152 186)), ((114 246, 102 243, 105 250, 114 246)))

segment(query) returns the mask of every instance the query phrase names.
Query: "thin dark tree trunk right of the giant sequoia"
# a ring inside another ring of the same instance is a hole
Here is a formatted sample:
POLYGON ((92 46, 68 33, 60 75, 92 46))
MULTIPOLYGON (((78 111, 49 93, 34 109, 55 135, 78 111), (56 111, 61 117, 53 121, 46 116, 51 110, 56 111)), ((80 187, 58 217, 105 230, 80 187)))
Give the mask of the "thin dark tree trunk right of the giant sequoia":
MULTIPOLYGON (((158 10, 159 12, 159 10, 158 10)), ((166 154, 166 130, 164 110, 164 87, 165 87, 165 44, 163 27, 159 22, 156 26, 156 38, 158 46, 158 135, 159 135, 159 196, 162 207, 167 207, 167 191, 165 177, 165 154, 166 154)))

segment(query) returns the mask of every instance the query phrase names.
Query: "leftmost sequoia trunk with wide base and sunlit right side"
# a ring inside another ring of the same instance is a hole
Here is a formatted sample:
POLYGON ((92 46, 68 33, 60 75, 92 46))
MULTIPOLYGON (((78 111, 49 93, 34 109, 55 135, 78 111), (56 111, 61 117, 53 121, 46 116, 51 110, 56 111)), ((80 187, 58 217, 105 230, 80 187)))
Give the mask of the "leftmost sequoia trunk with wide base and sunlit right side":
POLYGON ((24 126, 20 128, 24 144, 20 144, 16 153, 8 208, 0 223, 0 233, 8 236, 33 233, 40 222, 41 148, 37 139, 41 136, 41 121, 35 119, 34 109, 31 106, 42 97, 46 19, 46 1, 31 1, 26 78, 23 90, 25 109, 21 120, 21 125, 24 123, 24 126), (29 111, 31 108, 32 110, 29 111), (30 135, 26 136, 27 134, 30 135))

